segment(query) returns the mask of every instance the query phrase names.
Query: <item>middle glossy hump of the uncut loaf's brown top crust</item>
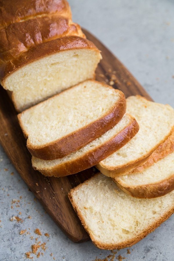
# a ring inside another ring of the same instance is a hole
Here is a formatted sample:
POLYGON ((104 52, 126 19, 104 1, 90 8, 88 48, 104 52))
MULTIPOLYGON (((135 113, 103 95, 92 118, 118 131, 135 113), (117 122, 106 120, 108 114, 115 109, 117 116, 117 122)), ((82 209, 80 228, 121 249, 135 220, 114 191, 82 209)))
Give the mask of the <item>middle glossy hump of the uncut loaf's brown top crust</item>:
POLYGON ((0 30, 1 63, 27 52, 32 46, 68 35, 85 37, 79 25, 59 13, 12 23, 0 30))

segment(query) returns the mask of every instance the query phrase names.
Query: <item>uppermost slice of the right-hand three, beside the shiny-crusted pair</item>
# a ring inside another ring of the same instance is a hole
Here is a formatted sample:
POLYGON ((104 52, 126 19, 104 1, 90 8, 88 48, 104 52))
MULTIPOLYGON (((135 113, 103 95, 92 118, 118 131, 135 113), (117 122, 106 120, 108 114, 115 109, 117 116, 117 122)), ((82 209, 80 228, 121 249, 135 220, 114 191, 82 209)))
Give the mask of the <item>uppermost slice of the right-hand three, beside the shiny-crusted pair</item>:
POLYGON ((142 164, 171 134, 174 110, 169 105, 150 102, 141 96, 126 99, 127 113, 139 124, 137 135, 117 152, 97 164, 105 175, 116 177, 142 164))

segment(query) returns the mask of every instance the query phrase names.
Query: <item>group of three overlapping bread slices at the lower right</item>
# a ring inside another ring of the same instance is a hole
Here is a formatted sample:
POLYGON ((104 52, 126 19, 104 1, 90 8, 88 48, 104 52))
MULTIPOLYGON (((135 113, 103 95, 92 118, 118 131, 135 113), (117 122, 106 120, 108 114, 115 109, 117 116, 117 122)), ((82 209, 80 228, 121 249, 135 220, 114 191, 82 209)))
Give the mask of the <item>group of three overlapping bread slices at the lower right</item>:
POLYGON ((139 132, 96 165, 104 175, 69 193, 101 249, 130 247, 174 213, 174 110, 141 96, 128 97, 126 104, 139 132))

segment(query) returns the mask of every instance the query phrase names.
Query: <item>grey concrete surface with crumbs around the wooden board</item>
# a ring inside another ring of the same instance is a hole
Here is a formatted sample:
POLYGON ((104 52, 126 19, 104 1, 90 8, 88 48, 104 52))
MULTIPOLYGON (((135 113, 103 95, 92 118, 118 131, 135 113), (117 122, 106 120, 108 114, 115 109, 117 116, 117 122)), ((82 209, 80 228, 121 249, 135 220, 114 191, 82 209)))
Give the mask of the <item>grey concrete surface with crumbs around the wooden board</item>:
MULTIPOLYGON (((128 67, 156 102, 174 106, 174 1, 172 0, 70 0, 73 19, 96 35, 128 67)), ((46 242, 38 260, 83 261, 106 258, 111 251, 92 242, 71 242, 45 213, 0 147, 0 260, 19 261, 38 241, 46 242), (4 171, 4 168, 8 168, 4 171), (14 172, 14 175, 10 173, 14 172), (22 198, 20 199, 20 196, 22 198), (11 204, 13 199, 20 200, 11 204), (13 209, 11 208, 13 206, 13 209), (21 212, 21 215, 19 215, 21 212), (19 216, 23 223, 10 221, 19 216), (28 216, 32 219, 29 219, 28 216), (27 232, 20 235, 22 229, 27 232), (44 233, 49 233, 46 238, 44 233), (53 254, 52 256, 50 254, 53 254)), ((174 260, 174 216, 141 242, 118 251, 126 260, 174 260)), ((35 255, 33 260, 37 260, 35 255)), ((109 259, 110 260, 110 259, 109 259)))

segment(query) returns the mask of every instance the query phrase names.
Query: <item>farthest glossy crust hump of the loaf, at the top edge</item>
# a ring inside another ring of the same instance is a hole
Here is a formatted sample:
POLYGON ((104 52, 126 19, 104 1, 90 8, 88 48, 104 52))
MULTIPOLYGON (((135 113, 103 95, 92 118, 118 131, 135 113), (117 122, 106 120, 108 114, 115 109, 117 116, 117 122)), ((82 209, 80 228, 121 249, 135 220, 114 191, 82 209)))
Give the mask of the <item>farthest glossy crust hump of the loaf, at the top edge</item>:
POLYGON ((66 0, 1 0, 0 29, 11 23, 56 12, 71 19, 70 6, 66 0))

